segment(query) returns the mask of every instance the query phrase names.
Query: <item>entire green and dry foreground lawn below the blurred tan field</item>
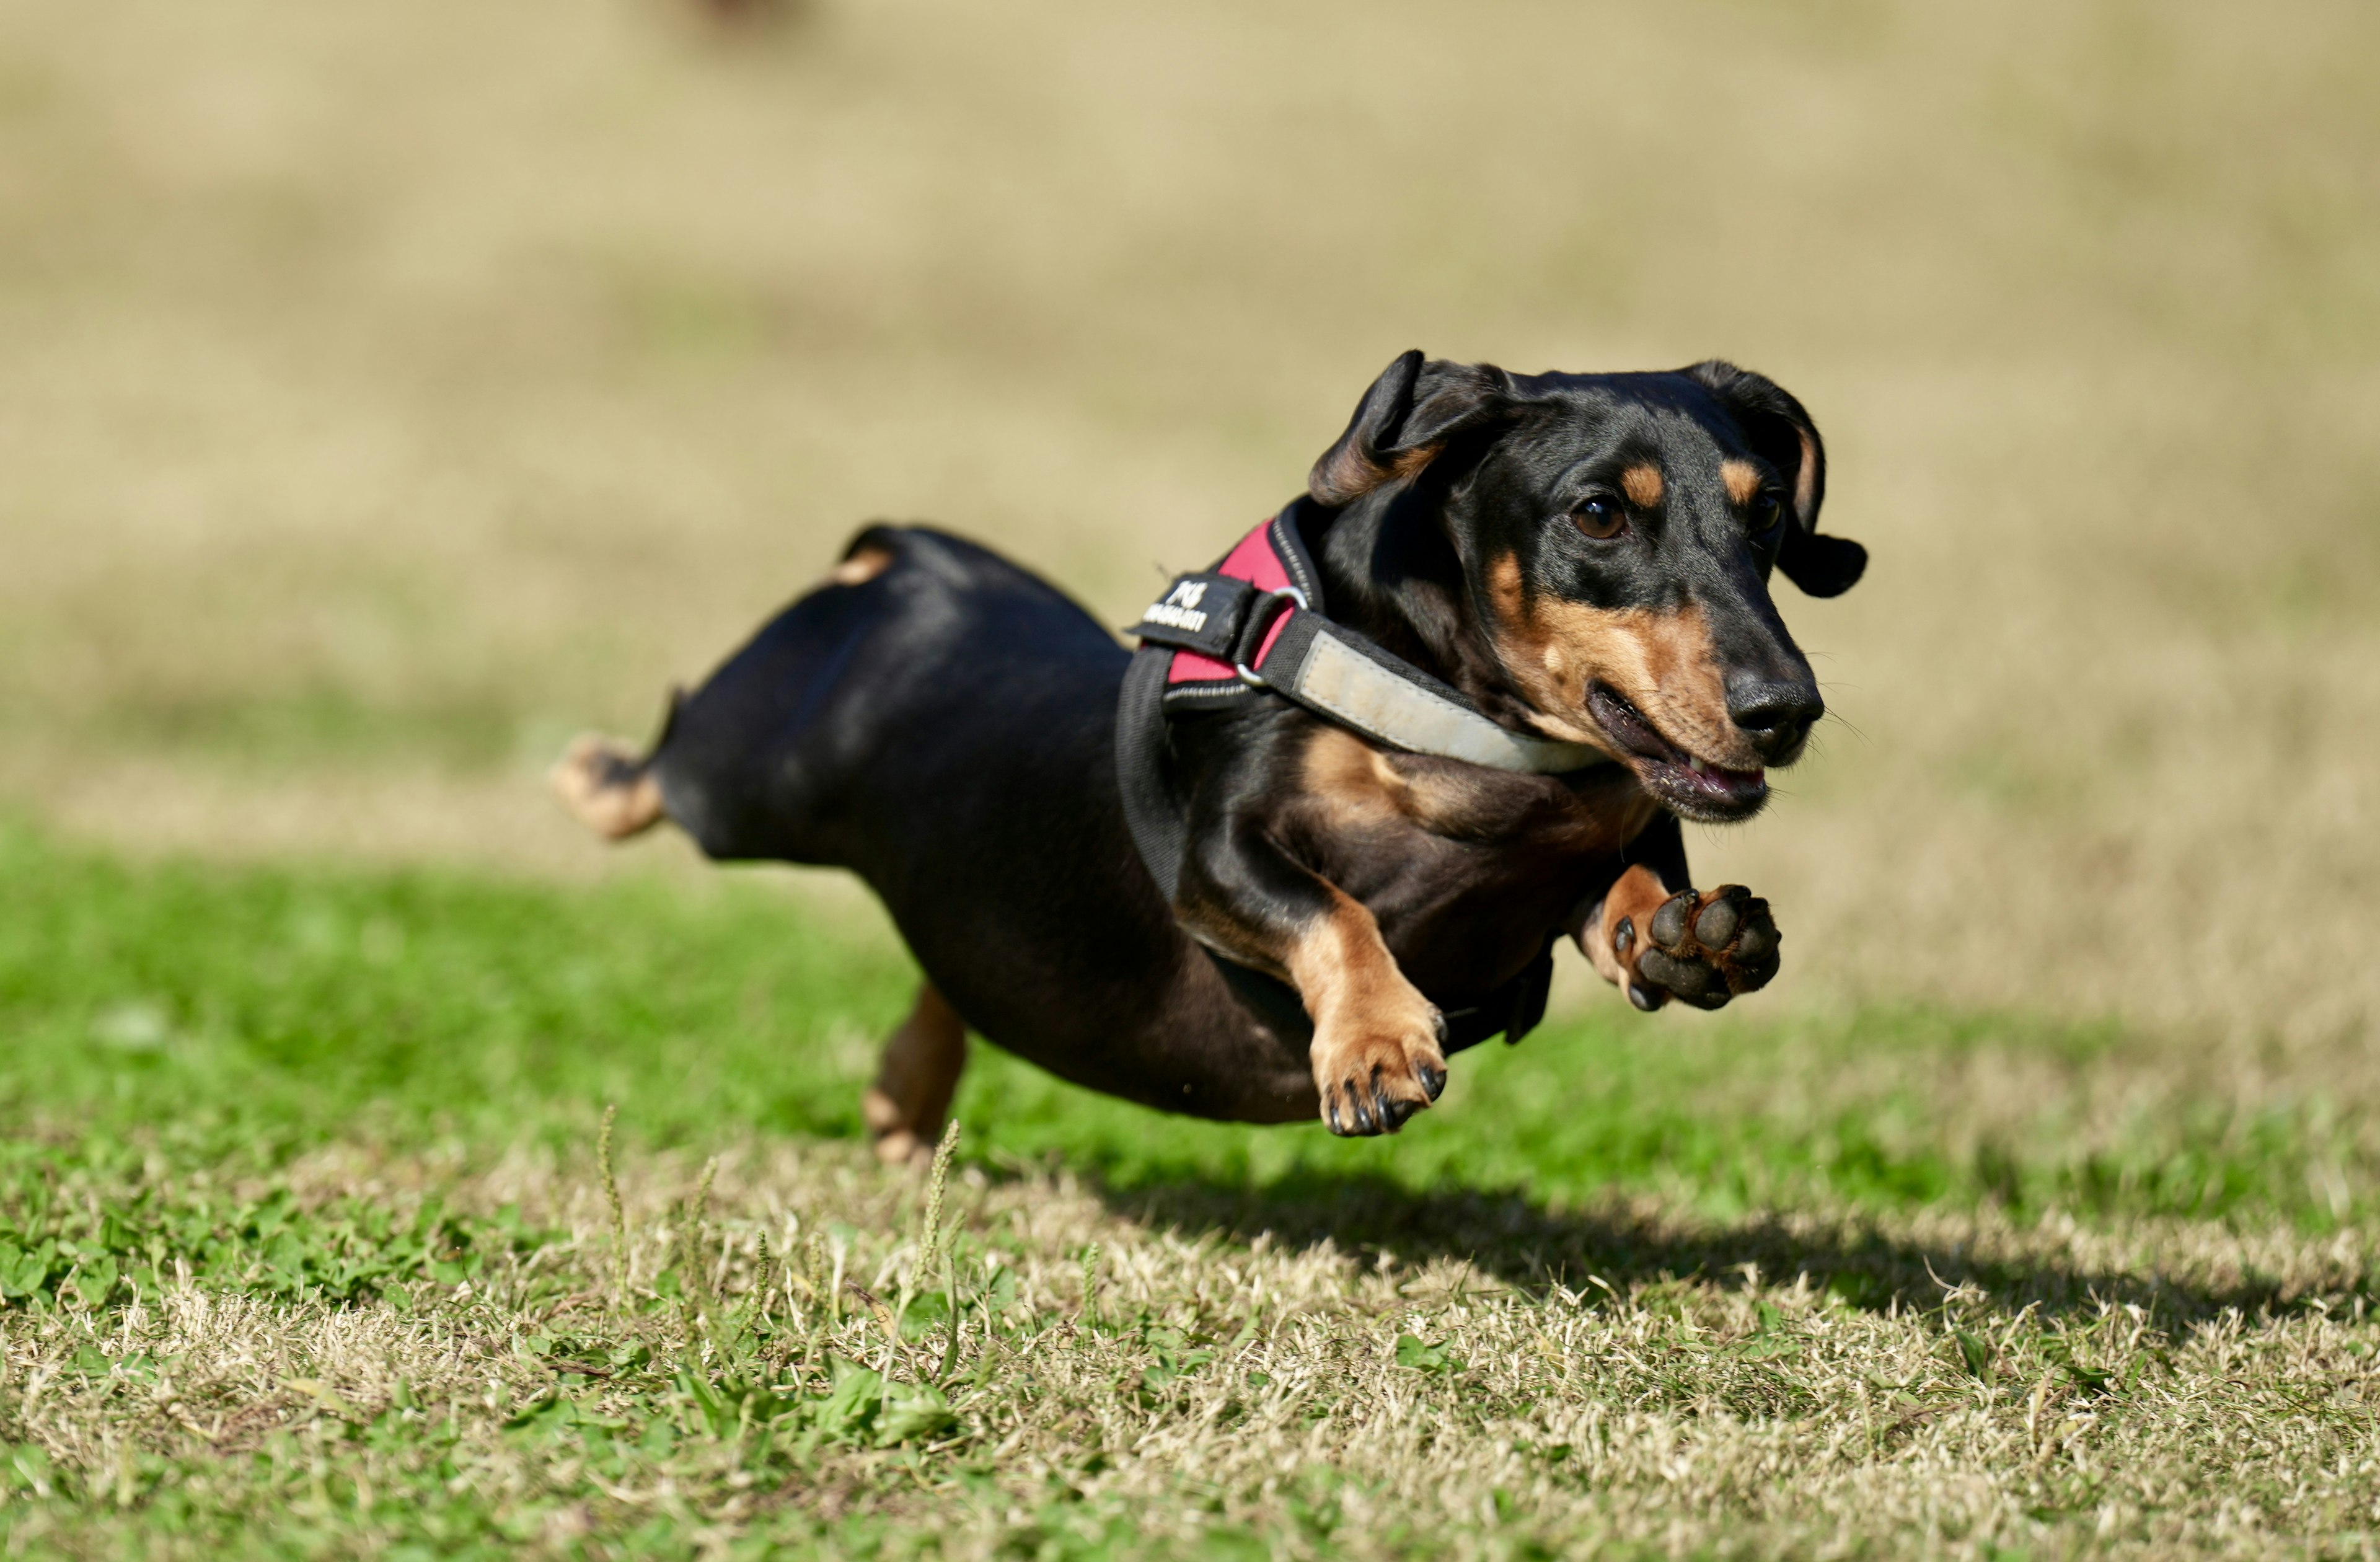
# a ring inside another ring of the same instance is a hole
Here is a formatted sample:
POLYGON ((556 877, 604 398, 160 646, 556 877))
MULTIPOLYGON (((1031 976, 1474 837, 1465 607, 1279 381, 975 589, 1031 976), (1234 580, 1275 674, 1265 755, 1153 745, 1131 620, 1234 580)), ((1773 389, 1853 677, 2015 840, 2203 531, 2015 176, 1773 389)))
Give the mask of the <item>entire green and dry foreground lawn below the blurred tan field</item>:
POLYGON ((2242 1088, 2113 1026, 1602 1005, 1345 1143, 978 1048, 935 1229, 859 1148, 912 969, 774 886, 29 831, 0 886, 19 1548, 1799 1550, 1883 1502, 1859 1533, 2154 1550, 2237 1500, 2192 1462, 2209 1417, 2271 1443, 2237 1455, 2271 1522, 2313 1512, 2280 1472, 2370 1436, 2340 1398, 2380 1343, 2351 1076, 2242 1088), (2154 1429, 2130 1462, 2087 1448, 2118 1407, 2154 1429), (1914 1507, 1742 1474, 1664 1519, 1695 1436, 1804 1474, 1856 1436, 1914 1507), (1954 1536, 1911 1517, 1942 1460, 2013 1483, 1954 1536), (1440 1517, 1399 1519, 1430 1469, 1440 1517))

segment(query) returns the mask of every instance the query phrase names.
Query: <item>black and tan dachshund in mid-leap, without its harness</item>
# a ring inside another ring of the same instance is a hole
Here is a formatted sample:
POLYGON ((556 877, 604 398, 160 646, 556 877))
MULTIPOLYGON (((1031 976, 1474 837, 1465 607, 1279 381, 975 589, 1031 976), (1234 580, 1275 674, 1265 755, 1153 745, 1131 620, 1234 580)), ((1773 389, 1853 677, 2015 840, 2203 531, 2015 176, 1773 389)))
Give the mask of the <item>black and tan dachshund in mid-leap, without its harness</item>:
POLYGON ((1768 905, 1692 891, 1678 819, 1749 819, 1823 714, 1768 595, 1771 569, 1859 579, 1823 493, 1802 405, 1730 364, 1409 352, 1271 524, 1314 576, 1288 595, 1576 767, 1404 752, 1216 683, 1245 698, 1159 738, 1183 845, 1152 871, 1119 783, 1128 652, 983 548, 871 526, 652 752, 581 738, 555 781, 602 836, 666 817, 883 898, 926 971, 866 1098, 888 1160, 933 1141, 969 1029, 1152 1107, 1395 1131, 1454 1045, 1533 1024, 1557 936, 1645 1010, 1775 974, 1768 905))

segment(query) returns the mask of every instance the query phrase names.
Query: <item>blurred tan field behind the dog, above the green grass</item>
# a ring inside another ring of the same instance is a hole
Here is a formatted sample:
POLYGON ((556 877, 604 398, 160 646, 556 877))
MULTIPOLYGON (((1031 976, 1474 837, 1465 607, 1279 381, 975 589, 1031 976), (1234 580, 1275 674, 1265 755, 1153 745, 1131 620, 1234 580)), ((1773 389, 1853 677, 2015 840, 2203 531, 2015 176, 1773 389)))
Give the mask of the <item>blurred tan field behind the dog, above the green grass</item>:
POLYGON ((1785 591, 1842 719, 1692 841, 1780 907, 1764 1012, 2351 1091, 2375 57, 2344 0, 5 0, 0 807, 695 881, 538 774, 864 519, 1121 621, 1404 348, 1726 355, 1875 555, 1785 591))

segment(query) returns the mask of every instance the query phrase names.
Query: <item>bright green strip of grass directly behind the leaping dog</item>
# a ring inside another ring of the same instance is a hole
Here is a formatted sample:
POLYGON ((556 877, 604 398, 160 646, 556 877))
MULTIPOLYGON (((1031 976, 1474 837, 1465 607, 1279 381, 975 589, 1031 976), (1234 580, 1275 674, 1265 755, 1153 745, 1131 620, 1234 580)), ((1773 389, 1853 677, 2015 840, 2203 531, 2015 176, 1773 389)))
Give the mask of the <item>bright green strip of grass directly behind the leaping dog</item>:
MULTIPOLYGON (((129 867, 0 836, 0 1102, 17 1121, 269 1167, 331 1138, 583 1145, 605 1105, 652 1145, 728 1131, 859 1136, 873 1038, 914 967, 764 886, 566 891, 440 871, 129 867)), ((1378 1179, 2018 1212, 2280 1217, 2361 1205, 2320 1095, 2154 1100, 2087 1121, 2113 1026, 1930 1010, 1844 1019, 1602 1005, 1459 1057, 1397 1138, 1164 1117, 978 1048, 966 1155, 1061 1160, 1114 1188, 1378 1179), (1944 1136, 1933 1081, 2018 1057, 2056 1091, 1944 1136), (2149 1110, 2154 1107, 2154 1110, 2149 1110), (1973 1136, 1971 1136, 1973 1138, 1973 1136)))

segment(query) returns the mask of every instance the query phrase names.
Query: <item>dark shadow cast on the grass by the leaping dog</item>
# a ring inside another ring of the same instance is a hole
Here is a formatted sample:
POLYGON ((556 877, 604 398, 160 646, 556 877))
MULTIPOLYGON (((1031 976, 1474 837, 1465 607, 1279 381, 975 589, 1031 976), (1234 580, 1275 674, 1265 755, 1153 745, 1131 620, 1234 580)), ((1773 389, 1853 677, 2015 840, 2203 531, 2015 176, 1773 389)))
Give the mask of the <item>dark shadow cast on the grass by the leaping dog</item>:
MULTIPOLYGON (((1640 1219, 1626 1212, 1559 1212, 1523 1193, 1454 1188, 1416 1193, 1380 1176, 1295 1174, 1266 1188, 1195 1179, 1104 1186, 1102 1200, 1121 1217, 1214 1233, 1311 1248, 1335 1243, 1342 1252, 1395 1252, 1404 1262, 1454 1257, 1530 1295, 1561 1283, 1592 1291, 1595 1279, 1618 1293, 1633 1286, 1699 1279, 1716 1286, 1792 1283, 1811 1286, 1854 1307, 1933 1310, 1944 1291, 1975 1286, 1990 1307, 2047 1314, 2094 1310, 2099 1302, 2137 1305, 2161 1324, 2187 1324, 2237 1307, 2304 1312, 2337 1288, 2242 1269, 2228 1283, 2197 1283, 2156 1272, 2085 1269, 2054 1257, 1983 1257, 1961 1245, 1928 1245, 1883 1231, 1873 1222, 1835 1222, 1795 1231, 1773 1214, 1735 1224, 1640 1219), (1595 1276, 1595 1279, 1590 1279, 1595 1276)), ((2370 1295, 2370 1267, 2356 1267, 2349 1293, 2370 1295)))

